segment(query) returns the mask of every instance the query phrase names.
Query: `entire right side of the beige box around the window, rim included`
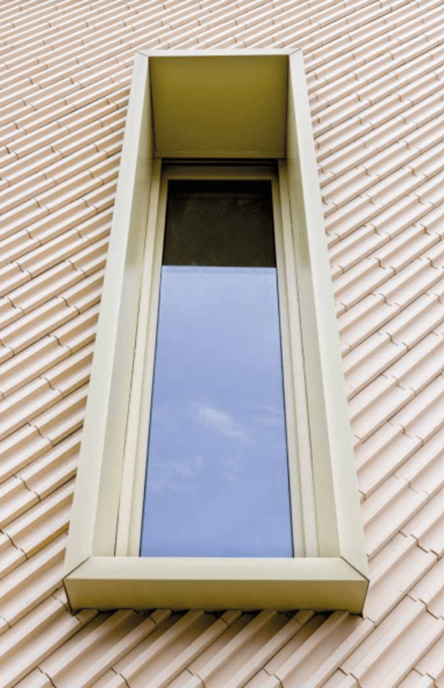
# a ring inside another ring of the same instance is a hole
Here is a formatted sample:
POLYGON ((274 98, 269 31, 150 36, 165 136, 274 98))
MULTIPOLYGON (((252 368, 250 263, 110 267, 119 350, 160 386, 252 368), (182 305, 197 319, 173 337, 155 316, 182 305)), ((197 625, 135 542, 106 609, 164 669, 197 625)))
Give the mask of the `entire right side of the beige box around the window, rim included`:
POLYGON ((311 424, 320 554, 368 575, 302 53, 289 56, 288 169, 311 424))

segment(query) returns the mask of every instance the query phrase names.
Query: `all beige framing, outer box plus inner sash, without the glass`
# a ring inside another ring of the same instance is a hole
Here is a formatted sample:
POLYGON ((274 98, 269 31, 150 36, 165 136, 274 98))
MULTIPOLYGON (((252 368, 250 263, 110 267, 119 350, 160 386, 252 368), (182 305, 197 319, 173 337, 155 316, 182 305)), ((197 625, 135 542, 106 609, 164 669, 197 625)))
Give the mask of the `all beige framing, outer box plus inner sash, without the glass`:
POLYGON ((367 563, 298 50, 136 55, 64 583, 73 609, 362 612, 367 563), (193 176, 271 181, 293 559, 138 556, 167 185, 193 176))

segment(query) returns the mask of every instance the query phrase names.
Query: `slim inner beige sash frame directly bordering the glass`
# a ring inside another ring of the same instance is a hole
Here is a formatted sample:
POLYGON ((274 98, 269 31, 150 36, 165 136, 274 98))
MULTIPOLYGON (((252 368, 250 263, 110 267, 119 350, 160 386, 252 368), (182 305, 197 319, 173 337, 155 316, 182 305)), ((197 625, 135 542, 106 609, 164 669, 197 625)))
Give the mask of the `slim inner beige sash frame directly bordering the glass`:
MULTIPOLYGON (((157 164, 153 169, 156 197, 151 197, 148 208, 133 384, 118 511, 115 547, 115 554, 118 556, 138 556, 140 550, 168 182, 192 179, 271 182, 293 548, 296 557, 318 555, 305 378, 303 365, 298 365, 302 363, 303 352, 293 237, 289 222, 282 222, 282 217, 289 217, 288 197, 280 197, 280 186, 285 183, 287 170, 285 164, 281 164, 276 171, 273 168, 272 164, 221 165, 220 161, 215 161, 214 164, 202 166, 198 161, 190 161, 189 164, 181 161, 176 164, 157 164), (160 176, 158 183, 157 175, 160 176), (288 308, 289 301, 291 309, 288 308), (293 365, 293 361, 296 365, 293 365), (304 485, 303 491, 301 485, 304 485)), ((179 564, 178 561, 175 566, 179 564)), ((214 559, 214 568, 217 566, 219 562, 214 559)))

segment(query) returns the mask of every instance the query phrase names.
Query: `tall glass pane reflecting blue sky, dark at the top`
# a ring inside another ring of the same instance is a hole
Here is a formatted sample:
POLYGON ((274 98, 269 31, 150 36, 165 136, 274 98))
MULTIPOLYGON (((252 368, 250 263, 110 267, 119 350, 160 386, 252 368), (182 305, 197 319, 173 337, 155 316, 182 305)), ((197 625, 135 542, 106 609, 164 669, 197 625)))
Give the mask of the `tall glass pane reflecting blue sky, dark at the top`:
POLYGON ((293 556, 269 182, 170 182, 140 553, 293 556))

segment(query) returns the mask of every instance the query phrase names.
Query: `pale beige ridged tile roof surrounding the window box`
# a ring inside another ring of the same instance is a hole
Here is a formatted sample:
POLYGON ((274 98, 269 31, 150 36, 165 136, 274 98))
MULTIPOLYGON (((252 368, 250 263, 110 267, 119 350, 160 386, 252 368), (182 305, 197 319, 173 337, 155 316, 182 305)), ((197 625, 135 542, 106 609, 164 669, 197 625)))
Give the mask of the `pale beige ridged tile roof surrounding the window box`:
POLYGON ((0 685, 444 686, 444 1, 3 0, 0 685), (371 588, 71 616, 60 583, 137 47, 302 47, 371 588))

